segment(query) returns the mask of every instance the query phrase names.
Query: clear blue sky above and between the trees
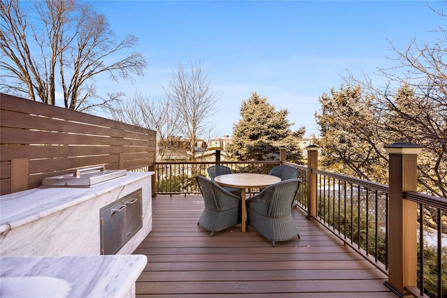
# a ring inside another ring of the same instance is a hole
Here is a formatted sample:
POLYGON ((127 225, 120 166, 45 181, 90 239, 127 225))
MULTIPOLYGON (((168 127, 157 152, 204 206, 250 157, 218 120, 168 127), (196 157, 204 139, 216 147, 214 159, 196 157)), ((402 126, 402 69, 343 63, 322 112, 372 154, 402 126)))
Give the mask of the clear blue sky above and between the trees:
MULTIPOLYGON (((318 96, 339 89, 350 70, 359 78, 396 65, 390 43, 434 39, 447 29, 425 1, 90 1, 118 39, 139 38, 147 70, 135 83, 98 82, 101 91, 163 94, 179 63, 200 60, 219 94, 213 120, 231 135, 252 91, 286 108, 293 129, 316 134, 318 96)), ((447 11, 447 1, 428 2, 447 11)), ((104 94, 105 95, 105 94, 104 94)))

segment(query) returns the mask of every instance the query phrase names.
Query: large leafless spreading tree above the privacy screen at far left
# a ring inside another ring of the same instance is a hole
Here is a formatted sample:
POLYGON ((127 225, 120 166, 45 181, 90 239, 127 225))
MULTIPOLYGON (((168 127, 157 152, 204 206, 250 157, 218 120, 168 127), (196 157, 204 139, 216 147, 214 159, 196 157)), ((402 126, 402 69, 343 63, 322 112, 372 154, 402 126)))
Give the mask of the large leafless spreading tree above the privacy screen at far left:
POLYGON ((98 74, 108 73, 114 81, 143 75, 146 61, 140 53, 112 61, 137 38, 116 42, 106 17, 86 2, 0 0, 0 12, 0 89, 54 105, 60 84, 65 107, 81 111, 110 100, 96 94, 98 74), (36 18, 30 21, 29 15, 36 18))

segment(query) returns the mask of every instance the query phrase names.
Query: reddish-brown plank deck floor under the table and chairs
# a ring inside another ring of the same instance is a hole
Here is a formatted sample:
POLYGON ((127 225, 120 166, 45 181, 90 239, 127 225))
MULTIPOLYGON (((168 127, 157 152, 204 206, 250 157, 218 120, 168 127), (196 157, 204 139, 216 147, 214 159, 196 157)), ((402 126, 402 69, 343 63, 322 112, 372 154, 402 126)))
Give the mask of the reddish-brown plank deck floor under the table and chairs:
POLYGON ((385 274, 301 211, 301 239, 272 247, 240 225, 210 237, 202 210, 201 196, 153 198, 154 228, 134 252, 148 258, 137 297, 396 297, 385 274))

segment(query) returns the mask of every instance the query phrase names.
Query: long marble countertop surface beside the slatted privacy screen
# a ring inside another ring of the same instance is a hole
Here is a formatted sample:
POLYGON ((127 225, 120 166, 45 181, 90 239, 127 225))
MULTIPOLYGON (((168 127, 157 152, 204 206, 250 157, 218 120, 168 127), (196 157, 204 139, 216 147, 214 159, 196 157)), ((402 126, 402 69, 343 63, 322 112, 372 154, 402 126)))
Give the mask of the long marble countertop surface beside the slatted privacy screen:
POLYGON ((98 195, 151 176, 154 172, 127 172, 125 176, 90 187, 40 187, 0 196, 0 233, 61 211, 98 195))

